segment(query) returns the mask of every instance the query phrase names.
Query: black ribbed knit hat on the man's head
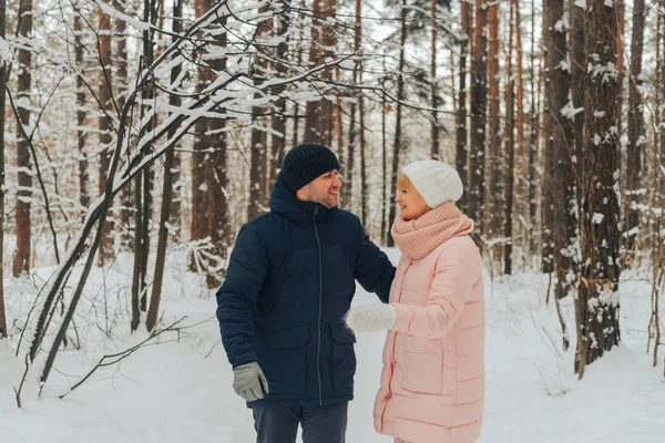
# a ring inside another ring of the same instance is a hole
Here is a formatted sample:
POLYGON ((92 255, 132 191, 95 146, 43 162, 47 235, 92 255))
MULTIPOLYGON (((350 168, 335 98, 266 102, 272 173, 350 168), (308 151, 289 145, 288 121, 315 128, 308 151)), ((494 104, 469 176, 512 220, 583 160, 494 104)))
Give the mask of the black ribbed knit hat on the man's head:
POLYGON ((295 146, 282 164, 284 184, 294 194, 331 169, 339 169, 337 156, 328 147, 315 143, 295 146))

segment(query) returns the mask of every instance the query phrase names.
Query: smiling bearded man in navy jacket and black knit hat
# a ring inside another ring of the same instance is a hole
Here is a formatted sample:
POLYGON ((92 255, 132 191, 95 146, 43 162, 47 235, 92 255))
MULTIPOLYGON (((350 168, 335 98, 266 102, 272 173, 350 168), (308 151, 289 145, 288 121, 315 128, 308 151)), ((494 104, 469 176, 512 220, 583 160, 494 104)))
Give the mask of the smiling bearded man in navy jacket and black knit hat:
POLYGON ((257 443, 344 443, 354 398, 354 333, 342 322, 355 280, 381 301, 395 267, 358 217, 337 208, 339 163, 323 145, 284 158, 270 212, 244 225, 217 291, 234 390, 257 443))

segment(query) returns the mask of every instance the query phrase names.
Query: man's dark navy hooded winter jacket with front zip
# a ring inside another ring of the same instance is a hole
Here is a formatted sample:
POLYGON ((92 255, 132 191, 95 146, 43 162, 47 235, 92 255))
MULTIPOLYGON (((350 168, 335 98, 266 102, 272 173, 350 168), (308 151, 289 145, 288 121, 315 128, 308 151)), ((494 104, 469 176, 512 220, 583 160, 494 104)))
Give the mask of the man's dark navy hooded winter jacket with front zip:
POLYGON ((393 277, 358 217, 298 200, 279 176, 270 212, 242 227, 217 291, 228 360, 258 362, 269 388, 259 403, 351 400, 356 339, 341 317, 355 280, 387 302, 393 277))

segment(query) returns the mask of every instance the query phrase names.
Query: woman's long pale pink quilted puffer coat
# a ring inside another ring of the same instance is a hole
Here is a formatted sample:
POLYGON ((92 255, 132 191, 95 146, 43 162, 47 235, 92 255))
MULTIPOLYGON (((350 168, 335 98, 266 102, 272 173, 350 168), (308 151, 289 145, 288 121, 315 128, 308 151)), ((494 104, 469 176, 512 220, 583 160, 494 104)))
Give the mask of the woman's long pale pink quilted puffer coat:
MULTIPOLYGON (((443 218, 450 218, 450 207, 441 212, 443 218)), ((390 302, 398 317, 386 339, 374 416, 377 432, 409 443, 472 443, 480 437, 484 402, 482 259, 468 236, 472 223, 464 216, 458 219, 461 222, 449 229, 449 238, 440 243, 441 236, 437 237, 440 244, 433 250, 428 243, 434 239, 429 236, 424 240, 420 236, 422 245, 415 249, 411 241, 412 257, 405 254, 405 239, 400 245, 396 237, 402 257, 390 302), (415 258, 419 254, 413 250, 431 251, 415 258)))

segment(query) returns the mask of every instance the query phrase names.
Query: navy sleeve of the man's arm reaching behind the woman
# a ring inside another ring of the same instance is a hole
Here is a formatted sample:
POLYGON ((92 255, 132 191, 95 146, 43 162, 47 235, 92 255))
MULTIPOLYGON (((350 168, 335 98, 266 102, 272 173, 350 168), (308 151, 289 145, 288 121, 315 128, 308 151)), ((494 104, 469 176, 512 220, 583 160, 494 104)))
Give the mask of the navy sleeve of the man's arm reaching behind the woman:
POLYGON ((356 280, 368 292, 376 292, 387 303, 390 285, 395 278, 395 266, 388 256, 375 245, 360 226, 360 251, 356 259, 356 280))

